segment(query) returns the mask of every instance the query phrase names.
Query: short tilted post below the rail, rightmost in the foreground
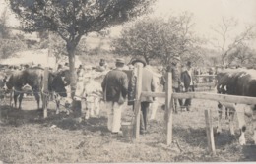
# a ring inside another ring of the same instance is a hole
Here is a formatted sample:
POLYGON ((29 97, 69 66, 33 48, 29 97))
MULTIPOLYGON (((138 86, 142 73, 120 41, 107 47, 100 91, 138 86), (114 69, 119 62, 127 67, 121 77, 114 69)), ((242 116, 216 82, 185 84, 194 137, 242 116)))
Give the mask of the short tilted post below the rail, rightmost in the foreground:
POLYGON ((215 151, 215 138, 214 138, 214 131, 213 131, 213 117, 212 111, 207 109, 205 110, 205 119, 206 119, 206 134, 207 134, 207 142, 209 151, 211 151, 214 155, 216 154, 215 151))

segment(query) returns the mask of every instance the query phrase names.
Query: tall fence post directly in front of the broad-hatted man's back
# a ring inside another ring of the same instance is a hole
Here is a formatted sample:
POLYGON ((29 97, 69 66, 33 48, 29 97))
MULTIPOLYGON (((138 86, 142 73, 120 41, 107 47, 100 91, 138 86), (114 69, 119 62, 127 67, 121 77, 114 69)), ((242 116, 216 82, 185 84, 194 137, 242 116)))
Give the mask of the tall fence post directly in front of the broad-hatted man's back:
POLYGON ((137 69, 137 81, 136 81, 136 92, 135 92, 135 102, 134 102, 134 112, 135 112, 135 140, 138 141, 140 137, 140 115, 141 115, 141 92, 142 92, 142 66, 139 65, 137 69))

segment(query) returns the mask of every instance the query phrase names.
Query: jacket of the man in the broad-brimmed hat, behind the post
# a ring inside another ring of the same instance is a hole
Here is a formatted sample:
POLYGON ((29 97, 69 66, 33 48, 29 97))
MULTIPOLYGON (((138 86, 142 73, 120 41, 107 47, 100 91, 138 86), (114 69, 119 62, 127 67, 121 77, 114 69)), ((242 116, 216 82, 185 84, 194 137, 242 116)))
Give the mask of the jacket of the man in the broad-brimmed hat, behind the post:
MULTIPOLYGON (((150 72, 148 69, 143 68, 142 70, 142 91, 147 92, 155 92, 156 91, 156 80, 153 77, 153 73, 150 72)), ((136 93, 136 81, 137 77, 135 75, 135 72, 133 72, 131 81, 129 82, 129 95, 128 100, 129 102, 133 102, 135 99, 135 93, 136 93)), ((141 102, 153 102, 153 97, 142 97, 141 102)), ((131 105, 132 103, 128 103, 128 105, 131 105)))

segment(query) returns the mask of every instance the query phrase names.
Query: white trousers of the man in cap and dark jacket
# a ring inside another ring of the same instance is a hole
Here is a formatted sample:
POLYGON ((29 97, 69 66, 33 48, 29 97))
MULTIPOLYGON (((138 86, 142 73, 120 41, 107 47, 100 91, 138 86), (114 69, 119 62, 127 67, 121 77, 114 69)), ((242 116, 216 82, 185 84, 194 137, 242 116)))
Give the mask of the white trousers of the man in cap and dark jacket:
POLYGON ((119 105, 116 102, 105 102, 107 108, 107 128, 112 133, 118 133, 121 128, 121 116, 124 104, 119 105))

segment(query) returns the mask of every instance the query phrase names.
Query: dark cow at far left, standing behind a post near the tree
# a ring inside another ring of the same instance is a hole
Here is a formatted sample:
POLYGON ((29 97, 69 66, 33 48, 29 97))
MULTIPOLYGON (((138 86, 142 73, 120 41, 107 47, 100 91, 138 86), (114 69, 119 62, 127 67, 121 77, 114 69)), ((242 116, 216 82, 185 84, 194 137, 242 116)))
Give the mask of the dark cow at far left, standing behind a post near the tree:
MULTIPOLYGON (((70 83, 70 74, 68 70, 62 70, 56 73, 49 72, 48 88, 62 97, 67 97, 65 86, 70 83)), ((27 68, 22 71, 15 71, 5 83, 6 89, 13 89, 13 99, 15 108, 17 108, 17 99, 19 97, 19 109, 22 108, 22 99, 24 89, 29 85, 37 102, 37 109, 40 108, 40 97, 43 86, 44 69, 40 67, 27 68)), ((57 101, 58 102, 58 101, 57 101)), ((57 105, 58 108, 58 105, 57 105)))

